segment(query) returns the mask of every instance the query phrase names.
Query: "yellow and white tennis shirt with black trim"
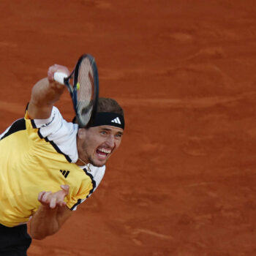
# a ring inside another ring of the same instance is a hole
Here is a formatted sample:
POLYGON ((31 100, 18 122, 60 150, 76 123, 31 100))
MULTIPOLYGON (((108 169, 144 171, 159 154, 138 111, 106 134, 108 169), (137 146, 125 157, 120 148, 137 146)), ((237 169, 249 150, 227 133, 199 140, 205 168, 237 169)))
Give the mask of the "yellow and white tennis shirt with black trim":
POLYGON ((97 188, 105 166, 78 167, 78 126, 53 107, 50 118, 15 121, 0 135, 0 223, 13 227, 28 222, 39 208, 39 192, 69 185, 67 207, 75 210, 97 188))

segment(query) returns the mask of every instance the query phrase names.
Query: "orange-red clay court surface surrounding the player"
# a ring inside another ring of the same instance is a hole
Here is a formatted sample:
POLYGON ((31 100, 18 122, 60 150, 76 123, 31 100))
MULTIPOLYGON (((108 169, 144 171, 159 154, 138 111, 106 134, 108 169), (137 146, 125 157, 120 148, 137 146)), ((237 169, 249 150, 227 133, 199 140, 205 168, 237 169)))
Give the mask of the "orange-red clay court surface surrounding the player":
MULTIPOLYGON (((72 69, 82 53, 127 121, 97 192, 29 256, 256 255, 255 8, 1 1, 1 132, 50 65, 72 69)), ((67 92, 58 106, 71 120, 67 92)))

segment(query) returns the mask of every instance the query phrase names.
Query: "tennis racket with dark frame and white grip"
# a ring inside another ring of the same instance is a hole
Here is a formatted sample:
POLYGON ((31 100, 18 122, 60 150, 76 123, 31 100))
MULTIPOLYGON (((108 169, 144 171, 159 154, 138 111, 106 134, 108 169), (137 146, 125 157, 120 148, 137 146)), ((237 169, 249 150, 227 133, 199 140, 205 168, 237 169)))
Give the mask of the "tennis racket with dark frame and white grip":
POLYGON ((94 57, 83 54, 69 76, 55 72, 53 78, 67 86, 78 124, 86 127, 94 119, 99 98, 99 78, 94 57))

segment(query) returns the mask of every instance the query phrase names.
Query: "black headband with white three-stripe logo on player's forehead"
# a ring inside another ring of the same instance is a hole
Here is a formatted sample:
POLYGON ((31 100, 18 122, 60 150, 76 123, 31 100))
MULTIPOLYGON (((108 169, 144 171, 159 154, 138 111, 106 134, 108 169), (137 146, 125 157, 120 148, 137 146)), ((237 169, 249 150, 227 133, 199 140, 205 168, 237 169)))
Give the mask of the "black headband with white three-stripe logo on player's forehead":
POLYGON ((96 113, 89 127, 99 127, 101 125, 110 125, 124 129, 124 116, 110 112, 96 113))

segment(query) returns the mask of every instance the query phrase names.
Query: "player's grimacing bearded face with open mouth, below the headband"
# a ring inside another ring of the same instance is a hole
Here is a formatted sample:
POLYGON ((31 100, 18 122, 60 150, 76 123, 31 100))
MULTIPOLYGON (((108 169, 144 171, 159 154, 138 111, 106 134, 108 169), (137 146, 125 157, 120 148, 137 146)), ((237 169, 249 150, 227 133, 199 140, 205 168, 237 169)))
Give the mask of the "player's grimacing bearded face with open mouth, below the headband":
POLYGON ((78 130, 78 155, 86 163, 94 166, 105 165, 118 148, 124 130, 102 125, 78 130))

